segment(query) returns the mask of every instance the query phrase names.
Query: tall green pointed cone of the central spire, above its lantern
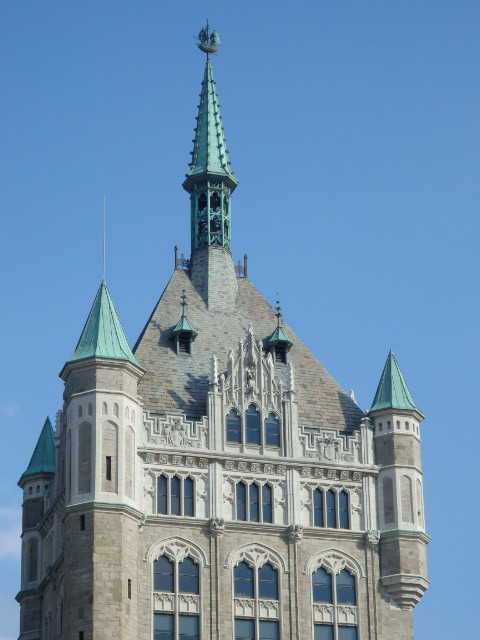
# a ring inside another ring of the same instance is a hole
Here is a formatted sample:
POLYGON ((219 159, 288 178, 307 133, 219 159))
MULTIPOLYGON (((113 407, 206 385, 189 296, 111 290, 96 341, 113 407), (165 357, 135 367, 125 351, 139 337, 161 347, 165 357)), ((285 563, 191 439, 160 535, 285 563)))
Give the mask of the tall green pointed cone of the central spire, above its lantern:
POLYGON ((238 184, 235 174, 230 170, 227 141, 213 79, 212 64, 207 58, 195 127, 192 162, 183 183, 184 188, 190 191, 197 178, 208 174, 226 179, 232 191, 238 184))

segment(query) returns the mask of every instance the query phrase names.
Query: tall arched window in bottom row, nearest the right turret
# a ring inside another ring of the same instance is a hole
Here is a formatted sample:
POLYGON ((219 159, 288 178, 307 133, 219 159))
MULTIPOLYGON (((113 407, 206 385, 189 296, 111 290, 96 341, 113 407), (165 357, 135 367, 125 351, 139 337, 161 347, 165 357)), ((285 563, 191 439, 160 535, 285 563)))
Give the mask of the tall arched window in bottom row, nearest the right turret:
POLYGON ((350 571, 334 574, 319 567, 312 575, 312 600, 314 640, 357 640, 357 594, 350 571))

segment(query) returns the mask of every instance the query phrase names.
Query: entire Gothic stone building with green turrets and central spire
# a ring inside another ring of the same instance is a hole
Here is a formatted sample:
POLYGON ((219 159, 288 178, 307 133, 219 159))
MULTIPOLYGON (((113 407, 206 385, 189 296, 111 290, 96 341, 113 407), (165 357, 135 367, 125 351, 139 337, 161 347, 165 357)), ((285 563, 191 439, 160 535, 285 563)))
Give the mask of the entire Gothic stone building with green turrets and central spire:
POLYGON ((234 266, 236 186, 207 55, 191 258, 133 349, 100 284, 19 480, 21 640, 413 638, 423 415, 392 353, 360 411, 234 266))

